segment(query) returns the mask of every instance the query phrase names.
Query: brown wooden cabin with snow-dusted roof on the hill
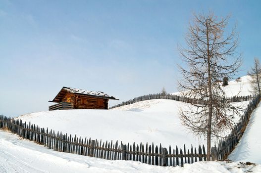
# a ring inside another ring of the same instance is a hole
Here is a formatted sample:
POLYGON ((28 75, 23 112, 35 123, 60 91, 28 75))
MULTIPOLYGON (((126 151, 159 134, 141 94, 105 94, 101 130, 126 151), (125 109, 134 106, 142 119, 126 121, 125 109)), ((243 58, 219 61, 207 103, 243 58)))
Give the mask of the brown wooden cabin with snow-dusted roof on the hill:
POLYGON ((101 91, 62 87, 49 106, 49 111, 60 109, 108 109, 108 101, 119 100, 101 91))

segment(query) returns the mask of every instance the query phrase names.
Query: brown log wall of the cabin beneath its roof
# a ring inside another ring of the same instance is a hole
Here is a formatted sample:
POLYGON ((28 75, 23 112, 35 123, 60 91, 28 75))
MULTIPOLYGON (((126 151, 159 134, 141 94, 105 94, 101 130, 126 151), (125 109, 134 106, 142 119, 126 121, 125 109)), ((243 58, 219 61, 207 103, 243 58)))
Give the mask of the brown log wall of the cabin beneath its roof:
POLYGON ((74 104, 74 109, 108 109, 108 99, 67 93, 62 101, 74 104))

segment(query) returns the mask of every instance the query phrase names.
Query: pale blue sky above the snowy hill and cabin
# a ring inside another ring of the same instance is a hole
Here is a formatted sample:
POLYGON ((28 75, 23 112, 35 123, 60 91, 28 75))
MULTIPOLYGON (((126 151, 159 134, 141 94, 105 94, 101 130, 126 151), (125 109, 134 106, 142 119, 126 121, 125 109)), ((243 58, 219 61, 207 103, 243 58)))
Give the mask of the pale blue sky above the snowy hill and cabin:
MULTIPOLYGON (((237 22, 247 73, 261 57, 258 0, 1 0, 0 114, 48 110, 61 87, 104 91, 120 101, 176 91, 177 45, 192 13, 237 22)), ((117 102, 110 101, 110 104, 117 102)))

